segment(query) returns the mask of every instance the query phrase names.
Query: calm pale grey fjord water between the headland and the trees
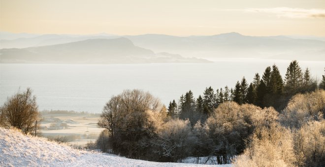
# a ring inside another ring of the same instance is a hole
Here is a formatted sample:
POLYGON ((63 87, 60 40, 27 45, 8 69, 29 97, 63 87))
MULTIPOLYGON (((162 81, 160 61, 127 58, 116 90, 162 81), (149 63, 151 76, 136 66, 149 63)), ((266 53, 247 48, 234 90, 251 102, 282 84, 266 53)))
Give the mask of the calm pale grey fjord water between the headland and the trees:
MULTIPOLYGON (((112 95, 142 89, 166 106, 188 90, 195 97, 205 87, 234 87, 243 76, 251 82, 276 64, 285 76, 290 60, 224 59, 214 63, 158 64, 0 64, 0 105, 8 96, 33 89, 39 110, 101 112, 112 95)), ((299 61, 313 77, 324 75, 324 61, 299 61)))

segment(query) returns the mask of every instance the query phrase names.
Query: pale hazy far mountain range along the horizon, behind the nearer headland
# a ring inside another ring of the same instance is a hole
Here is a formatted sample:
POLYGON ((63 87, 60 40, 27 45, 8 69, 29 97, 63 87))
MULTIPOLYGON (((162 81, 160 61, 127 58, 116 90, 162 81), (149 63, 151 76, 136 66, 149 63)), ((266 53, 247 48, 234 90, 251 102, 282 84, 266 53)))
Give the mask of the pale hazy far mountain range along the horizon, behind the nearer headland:
POLYGON ((31 38, 0 40, 0 48, 26 48, 86 39, 113 39, 117 37, 128 38, 135 46, 156 53, 166 52, 187 57, 325 60, 325 41, 323 40, 325 38, 323 37, 245 36, 237 32, 210 36, 163 34, 118 36, 103 33, 94 35, 48 34, 31 38))

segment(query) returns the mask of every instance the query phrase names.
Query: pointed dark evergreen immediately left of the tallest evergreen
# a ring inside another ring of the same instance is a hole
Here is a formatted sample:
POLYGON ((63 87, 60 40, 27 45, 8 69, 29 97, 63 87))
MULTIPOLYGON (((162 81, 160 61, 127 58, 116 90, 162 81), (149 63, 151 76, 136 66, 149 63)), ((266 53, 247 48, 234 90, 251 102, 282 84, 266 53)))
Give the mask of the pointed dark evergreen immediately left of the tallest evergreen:
POLYGON ((283 92, 283 80, 279 68, 274 64, 270 77, 270 93, 280 95, 283 92))

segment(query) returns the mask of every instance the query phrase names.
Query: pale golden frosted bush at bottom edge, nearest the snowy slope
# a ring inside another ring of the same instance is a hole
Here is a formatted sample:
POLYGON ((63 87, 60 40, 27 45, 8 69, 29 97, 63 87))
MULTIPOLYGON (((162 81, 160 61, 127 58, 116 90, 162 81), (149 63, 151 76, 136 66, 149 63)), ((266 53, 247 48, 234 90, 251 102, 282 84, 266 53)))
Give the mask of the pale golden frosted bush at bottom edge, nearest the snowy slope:
POLYGON ((235 167, 294 166, 293 135, 279 124, 256 129, 244 153, 234 159, 235 167))

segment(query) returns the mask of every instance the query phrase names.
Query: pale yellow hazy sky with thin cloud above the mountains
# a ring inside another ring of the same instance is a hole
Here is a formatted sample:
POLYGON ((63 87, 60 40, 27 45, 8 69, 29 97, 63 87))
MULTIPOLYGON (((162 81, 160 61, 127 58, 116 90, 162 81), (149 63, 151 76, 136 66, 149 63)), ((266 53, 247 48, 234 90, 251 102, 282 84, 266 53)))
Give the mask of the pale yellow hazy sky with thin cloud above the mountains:
POLYGON ((325 0, 0 0, 0 31, 325 36, 325 0))

